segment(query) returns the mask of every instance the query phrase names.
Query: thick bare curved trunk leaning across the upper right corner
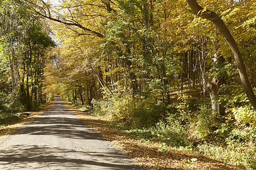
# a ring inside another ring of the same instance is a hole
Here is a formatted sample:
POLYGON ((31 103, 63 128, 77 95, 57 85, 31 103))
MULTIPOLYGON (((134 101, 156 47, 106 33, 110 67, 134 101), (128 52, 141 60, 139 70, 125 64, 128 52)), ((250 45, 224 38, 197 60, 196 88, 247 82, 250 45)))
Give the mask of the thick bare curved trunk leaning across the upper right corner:
POLYGON ((204 8, 198 5, 196 0, 187 0, 187 3, 194 14, 196 14, 201 18, 208 19, 213 24, 215 24, 218 30, 221 32, 222 36, 224 36, 226 42, 228 42, 228 45, 233 52, 234 58, 236 59, 238 72, 240 74, 241 82, 243 84, 245 93, 251 105, 256 110, 256 97, 254 95, 253 89, 251 88, 251 85, 246 73, 245 64, 243 63, 242 55, 237 46, 237 43, 234 40, 231 33, 229 32, 229 29, 226 27, 225 23, 217 14, 209 10, 204 10, 204 8))

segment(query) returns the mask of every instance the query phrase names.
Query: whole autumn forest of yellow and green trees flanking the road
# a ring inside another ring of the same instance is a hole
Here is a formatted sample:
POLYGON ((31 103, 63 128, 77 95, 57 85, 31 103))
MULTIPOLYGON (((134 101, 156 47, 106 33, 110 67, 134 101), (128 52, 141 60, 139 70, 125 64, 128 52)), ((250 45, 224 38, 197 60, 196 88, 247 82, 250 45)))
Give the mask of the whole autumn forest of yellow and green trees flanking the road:
POLYGON ((0 118, 60 95, 256 169, 255 0, 0 1, 0 118))

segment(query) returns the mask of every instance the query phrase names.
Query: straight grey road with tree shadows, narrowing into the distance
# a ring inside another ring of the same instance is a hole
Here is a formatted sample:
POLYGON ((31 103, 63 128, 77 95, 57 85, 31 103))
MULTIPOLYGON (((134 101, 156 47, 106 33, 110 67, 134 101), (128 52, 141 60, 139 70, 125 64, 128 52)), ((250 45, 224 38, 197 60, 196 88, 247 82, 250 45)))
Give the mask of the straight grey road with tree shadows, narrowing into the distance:
POLYGON ((0 143, 0 169, 141 169, 56 104, 0 143))

